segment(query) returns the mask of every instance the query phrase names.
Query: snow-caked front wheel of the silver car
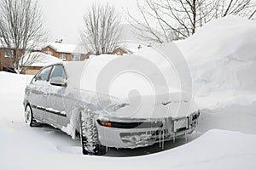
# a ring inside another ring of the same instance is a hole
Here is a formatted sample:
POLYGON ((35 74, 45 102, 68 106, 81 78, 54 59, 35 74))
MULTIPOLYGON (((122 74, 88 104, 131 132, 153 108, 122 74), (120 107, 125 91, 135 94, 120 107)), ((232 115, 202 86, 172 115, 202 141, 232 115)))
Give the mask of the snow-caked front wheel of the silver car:
POLYGON ((102 156, 106 154, 106 147, 99 144, 96 123, 90 113, 80 114, 80 139, 84 155, 102 156))

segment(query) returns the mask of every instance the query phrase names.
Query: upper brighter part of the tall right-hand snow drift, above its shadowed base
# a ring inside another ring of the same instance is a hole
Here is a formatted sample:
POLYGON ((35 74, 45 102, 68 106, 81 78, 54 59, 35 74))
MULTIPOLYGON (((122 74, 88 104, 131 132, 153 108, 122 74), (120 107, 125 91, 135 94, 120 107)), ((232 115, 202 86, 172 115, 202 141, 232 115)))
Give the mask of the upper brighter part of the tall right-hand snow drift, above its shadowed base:
POLYGON ((189 62, 195 96, 207 96, 207 107, 256 101, 255 20, 213 20, 176 43, 189 62))

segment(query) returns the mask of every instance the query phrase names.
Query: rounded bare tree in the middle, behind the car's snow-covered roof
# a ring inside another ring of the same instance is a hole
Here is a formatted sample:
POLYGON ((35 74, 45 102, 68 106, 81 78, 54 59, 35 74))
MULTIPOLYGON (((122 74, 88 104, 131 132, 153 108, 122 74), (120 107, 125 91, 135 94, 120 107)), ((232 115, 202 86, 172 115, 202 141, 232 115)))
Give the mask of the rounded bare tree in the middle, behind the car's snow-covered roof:
POLYGON ((107 54, 119 42, 121 33, 120 15, 108 3, 94 4, 84 14, 81 39, 92 54, 107 54))

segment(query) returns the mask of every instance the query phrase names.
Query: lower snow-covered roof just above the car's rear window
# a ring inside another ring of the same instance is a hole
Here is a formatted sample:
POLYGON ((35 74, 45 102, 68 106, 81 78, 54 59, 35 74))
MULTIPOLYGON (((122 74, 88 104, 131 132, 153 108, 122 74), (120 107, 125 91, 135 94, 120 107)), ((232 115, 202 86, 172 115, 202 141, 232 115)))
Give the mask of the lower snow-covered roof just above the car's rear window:
POLYGON ((31 54, 26 54, 23 60, 26 62, 24 66, 46 66, 62 62, 61 59, 41 52, 33 52, 31 54), (30 56, 32 56, 32 58, 35 59, 32 62, 32 65, 28 64, 30 63, 29 61, 26 62, 27 58, 29 58, 30 56))

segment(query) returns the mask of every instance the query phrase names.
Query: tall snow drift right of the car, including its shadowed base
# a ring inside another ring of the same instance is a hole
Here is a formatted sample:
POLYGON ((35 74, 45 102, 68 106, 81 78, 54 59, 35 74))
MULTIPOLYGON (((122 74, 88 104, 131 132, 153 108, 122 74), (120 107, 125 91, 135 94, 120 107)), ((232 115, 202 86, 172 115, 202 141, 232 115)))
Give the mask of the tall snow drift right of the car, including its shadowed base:
POLYGON ((256 20, 212 20, 177 46, 189 62, 201 132, 256 133, 256 20))

